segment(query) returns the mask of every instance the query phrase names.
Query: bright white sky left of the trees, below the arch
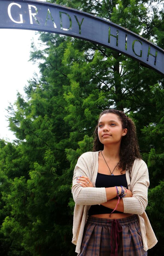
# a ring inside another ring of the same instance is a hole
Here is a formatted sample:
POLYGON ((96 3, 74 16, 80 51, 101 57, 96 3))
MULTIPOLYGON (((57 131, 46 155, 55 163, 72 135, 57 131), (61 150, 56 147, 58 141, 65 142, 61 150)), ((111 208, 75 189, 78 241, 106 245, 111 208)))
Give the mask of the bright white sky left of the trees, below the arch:
POLYGON ((0 33, 0 138, 12 141, 15 136, 8 130, 5 109, 14 104, 17 91, 24 94, 23 88, 34 72, 39 74, 37 65, 28 62, 32 39, 37 45, 38 36, 35 31, 21 29, 0 29, 0 33))

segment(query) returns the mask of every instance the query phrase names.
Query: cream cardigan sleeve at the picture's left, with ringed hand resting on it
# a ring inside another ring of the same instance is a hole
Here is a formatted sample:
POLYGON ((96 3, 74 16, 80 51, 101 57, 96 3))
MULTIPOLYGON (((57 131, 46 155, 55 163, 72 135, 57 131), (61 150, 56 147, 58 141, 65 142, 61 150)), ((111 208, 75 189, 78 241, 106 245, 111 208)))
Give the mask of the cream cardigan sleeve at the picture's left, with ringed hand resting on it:
POLYGON ((79 157, 74 169, 72 181, 72 194, 74 201, 78 205, 96 205, 107 202, 105 188, 83 188, 79 183, 77 183, 76 178, 79 175, 86 176, 91 180, 92 158, 89 156, 89 154, 87 155, 87 159, 85 156, 86 155, 83 154, 79 157))

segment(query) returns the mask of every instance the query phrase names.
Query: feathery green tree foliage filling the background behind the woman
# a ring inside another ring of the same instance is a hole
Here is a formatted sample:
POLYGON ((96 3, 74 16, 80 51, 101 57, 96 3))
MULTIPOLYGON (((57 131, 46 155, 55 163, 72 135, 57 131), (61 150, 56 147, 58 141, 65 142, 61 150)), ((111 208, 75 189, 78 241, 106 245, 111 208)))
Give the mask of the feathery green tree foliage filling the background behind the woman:
MULTIPOLYGON (((160 1, 49 1, 111 20, 163 47, 160 1)), ((71 244, 72 176, 91 151, 101 111, 117 108, 136 123, 150 174, 147 213, 163 251, 164 81, 155 71, 110 49, 76 38, 40 33, 31 45, 41 77, 8 107, 13 143, 0 140, 1 255, 76 255, 71 244)))

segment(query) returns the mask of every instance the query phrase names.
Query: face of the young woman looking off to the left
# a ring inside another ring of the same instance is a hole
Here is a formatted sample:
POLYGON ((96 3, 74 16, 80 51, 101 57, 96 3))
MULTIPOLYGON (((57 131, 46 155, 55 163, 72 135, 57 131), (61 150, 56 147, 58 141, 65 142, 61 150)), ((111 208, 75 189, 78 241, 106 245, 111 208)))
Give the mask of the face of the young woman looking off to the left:
POLYGON ((98 137, 102 144, 121 144, 122 136, 126 133, 127 129, 122 129, 122 123, 116 114, 108 113, 100 117, 98 137))

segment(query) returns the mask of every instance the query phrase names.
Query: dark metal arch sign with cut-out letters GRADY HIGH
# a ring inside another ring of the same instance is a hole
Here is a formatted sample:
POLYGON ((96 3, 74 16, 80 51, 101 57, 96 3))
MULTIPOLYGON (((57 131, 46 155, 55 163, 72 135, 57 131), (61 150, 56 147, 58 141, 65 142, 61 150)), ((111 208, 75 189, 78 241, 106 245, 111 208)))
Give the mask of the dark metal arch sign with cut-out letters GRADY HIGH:
POLYGON ((164 74, 163 49, 115 23, 62 5, 32 0, 0 0, 0 28, 77 37, 123 53, 164 74))

